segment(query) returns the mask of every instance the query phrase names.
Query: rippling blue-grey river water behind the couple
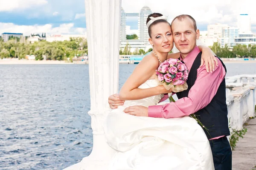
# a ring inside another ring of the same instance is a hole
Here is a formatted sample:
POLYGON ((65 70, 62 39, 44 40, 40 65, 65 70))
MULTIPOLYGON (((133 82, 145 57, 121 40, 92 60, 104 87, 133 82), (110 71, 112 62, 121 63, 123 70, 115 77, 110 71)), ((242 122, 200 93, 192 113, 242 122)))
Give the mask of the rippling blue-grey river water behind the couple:
MULTIPOLYGON (((136 65, 121 64, 119 88, 136 65)), ((227 76, 256 63, 228 63, 227 76)), ((88 65, 0 65, 0 169, 60 170, 92 147, 88 65)))

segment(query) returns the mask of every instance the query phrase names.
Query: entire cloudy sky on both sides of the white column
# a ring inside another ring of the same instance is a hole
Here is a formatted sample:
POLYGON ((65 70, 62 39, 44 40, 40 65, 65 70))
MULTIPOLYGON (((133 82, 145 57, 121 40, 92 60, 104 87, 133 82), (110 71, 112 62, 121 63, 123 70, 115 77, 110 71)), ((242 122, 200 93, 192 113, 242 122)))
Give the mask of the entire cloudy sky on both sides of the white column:
MULTIPOLYGON (((179 14, 189 14, 201 31, 215 23, 237 26, 237 16, 249 14, 256 33, 255 0, 122 0, 125 12, 139 13, 143 6, 166 15, 169 22, 179 14)), ((128 17, 126 24, 128 34, 136 33, 137 17, 128 17)), ((84 0, 0 0, 0 34, 3 32, 85 34, 84 0)))

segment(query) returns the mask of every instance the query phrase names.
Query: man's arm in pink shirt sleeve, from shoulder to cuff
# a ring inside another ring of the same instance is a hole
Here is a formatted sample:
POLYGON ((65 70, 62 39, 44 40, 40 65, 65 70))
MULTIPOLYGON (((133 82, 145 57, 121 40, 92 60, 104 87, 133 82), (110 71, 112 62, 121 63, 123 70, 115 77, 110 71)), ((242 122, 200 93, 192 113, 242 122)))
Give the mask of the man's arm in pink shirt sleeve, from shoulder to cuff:
POLYGON ((175 118, 199 111, 211 102, 225 74, 225 69, 219 60, 218 66, 211 74, 207 73, 205 66, 198 68, 197 79, 190 89, 188 97, 166 105, 149 106, 148 116, 175 118))

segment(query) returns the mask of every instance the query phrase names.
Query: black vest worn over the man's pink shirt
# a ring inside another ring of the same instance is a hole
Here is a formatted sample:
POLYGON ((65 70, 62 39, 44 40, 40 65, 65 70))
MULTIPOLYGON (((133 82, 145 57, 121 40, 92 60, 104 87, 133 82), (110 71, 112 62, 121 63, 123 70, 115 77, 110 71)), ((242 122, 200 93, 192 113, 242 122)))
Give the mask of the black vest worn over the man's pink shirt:
MULTIPOLYGON (((188 89, 186 91, 181 91, 177 94, 177 97, 180 99, 182 97, 188 97, 190 88, 195 84, 195 80, 197 79, 197 69, 201 64, 201 54, 200 52, 196 57, 191 70, 189 71, 189 77, 187 79, 188 89)), ((221 61, 221 59, 220 59, 221 61)), ((221 61, 221 64, 227 69, 224 63, 221 61)), ((210 74, 210 73, 209 73, 210 74)), ((207 87, 201 87, 207 88, 207 87)), ((200 99, 199 99, 200 100, 200 99)), ((207 127, 209 130, 204 129, 205 134, 208 139, 215 138, 218 136, 229 136, 230 130, 228 127, 228 119, 227 119, 227 104, 226 104, 226 83, 225 79, 221 82, 217 93, 213 97, 212 101, 205 108, 197 111, 195 113, 201 123, 207 127)))

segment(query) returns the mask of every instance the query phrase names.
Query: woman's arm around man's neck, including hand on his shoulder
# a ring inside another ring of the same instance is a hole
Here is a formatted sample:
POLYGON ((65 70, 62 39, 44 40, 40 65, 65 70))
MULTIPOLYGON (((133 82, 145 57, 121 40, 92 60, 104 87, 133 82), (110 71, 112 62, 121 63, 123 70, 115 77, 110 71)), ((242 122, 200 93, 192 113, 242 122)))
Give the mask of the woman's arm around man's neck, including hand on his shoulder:
MULTIPOLYGON (((218 65, 218 60, 216 59, 215 54, 212 52, 211 48, 209 48, 205 45, 198 45, 198 48, 199 48, 200 51, 202 51, 200 67, 202 67, 204 65, 204 62, 205 62, 205 67, 207 69, 207 72, 214 71, 215 64, 218 65)), ((180 52, 168 54, 167 59, 168 58, 179 59, 180 58, 180 52)))

